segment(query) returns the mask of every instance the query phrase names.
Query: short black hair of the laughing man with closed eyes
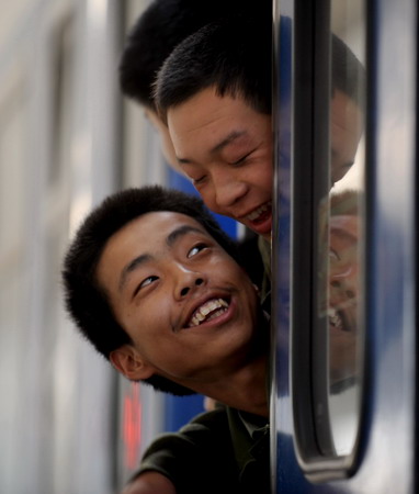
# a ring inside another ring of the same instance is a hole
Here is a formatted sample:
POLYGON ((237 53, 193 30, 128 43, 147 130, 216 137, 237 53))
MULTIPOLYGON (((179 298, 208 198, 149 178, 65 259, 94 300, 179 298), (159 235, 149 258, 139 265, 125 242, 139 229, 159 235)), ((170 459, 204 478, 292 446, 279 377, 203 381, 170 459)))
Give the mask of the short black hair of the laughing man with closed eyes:
POLYGON ((272 113, 272 14, 231 15, 191 34, 162 65, 155 99, 160 117, 197 92, 240 96, 256 111, 272 113))

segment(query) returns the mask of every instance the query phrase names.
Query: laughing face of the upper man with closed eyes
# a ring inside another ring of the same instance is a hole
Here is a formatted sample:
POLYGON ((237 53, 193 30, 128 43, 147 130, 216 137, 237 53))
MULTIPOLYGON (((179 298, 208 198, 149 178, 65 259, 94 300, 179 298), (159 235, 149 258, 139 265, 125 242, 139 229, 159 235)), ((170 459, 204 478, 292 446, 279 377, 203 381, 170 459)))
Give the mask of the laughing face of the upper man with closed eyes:
POLYGON ((241 98, 212 88, 168 112, 168 126, 183 171, 205 204, 270 238, 272 228, 271 116, 241 98))

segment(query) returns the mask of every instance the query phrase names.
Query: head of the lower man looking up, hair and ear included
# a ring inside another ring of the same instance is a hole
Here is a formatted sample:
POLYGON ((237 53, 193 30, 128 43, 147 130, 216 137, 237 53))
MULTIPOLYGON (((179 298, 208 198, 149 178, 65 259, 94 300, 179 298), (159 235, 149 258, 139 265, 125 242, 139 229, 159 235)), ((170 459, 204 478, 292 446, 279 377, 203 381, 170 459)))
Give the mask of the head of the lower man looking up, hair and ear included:
POLYGON ((259 302, 235 244, 202 202, 160 187, 106 199, 64 265, 66 306, 125 377, 174 394, 245 364, 259 302))

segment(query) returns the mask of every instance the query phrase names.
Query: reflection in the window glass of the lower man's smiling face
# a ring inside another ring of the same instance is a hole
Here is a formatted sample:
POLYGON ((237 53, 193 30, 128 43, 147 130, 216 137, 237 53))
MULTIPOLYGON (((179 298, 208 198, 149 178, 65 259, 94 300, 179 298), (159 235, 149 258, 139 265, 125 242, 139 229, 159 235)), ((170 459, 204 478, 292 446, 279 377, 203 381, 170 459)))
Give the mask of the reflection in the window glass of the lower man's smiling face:
POLYGON ((329 332, 332 385, 355 374, 360 290, 358 238, 358 216, 330 217, 329 332))

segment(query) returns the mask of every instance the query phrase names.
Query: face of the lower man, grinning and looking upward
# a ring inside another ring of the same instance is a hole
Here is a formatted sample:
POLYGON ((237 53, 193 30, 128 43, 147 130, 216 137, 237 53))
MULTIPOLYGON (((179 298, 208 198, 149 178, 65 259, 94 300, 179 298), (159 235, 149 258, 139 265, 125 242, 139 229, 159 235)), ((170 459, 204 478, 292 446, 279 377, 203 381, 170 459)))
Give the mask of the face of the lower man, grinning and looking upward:
POLYGON ((194 389, 248 358, 256 290, 190 216, 154 212, 128 223, 107 242, 97 277, 150 375, 194 389))

